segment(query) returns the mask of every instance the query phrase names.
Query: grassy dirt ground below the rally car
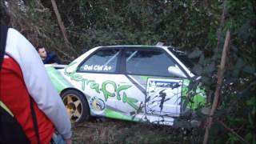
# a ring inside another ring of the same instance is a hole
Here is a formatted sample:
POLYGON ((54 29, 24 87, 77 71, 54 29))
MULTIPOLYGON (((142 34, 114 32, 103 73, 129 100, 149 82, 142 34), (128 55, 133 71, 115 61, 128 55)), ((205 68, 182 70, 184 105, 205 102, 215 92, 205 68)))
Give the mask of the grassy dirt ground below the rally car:
POLYGON ((93 118, 73 125, 76 143, 202 143, 200 131, 174 129, 138 122, 93 118))

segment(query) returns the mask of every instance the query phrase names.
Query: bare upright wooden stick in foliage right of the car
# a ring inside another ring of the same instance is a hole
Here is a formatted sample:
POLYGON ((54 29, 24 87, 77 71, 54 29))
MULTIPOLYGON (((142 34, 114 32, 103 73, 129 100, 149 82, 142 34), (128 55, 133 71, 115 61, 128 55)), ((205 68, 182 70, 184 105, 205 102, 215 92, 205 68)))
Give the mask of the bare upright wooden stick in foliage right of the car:
POLYGON ((222 77, 223 77, 223 74, 225 71, 226 55, 229 51, 229 47, 230 47, 230 31, 227 31, 225 44, 224 44, 224 48, 222 51, 221 64, 218 67, 218 81, 217 81, 217 87, 216 87, 216 90, 214 93, 214 103, 210 110, 210 117, 208 118, 207 123, 206 123, 206 132, 205 132, 205 136, 203 139, 203 144, 207 144, 207 142, 208 142, 210 126, 211 126, 211 123, 213 122, 213 115, 214 115, 215 110, 218 107, 218 100, 220 97, 220 93, 221 93, 220 91, 221 91, 221 86, 222 86, 222 77))

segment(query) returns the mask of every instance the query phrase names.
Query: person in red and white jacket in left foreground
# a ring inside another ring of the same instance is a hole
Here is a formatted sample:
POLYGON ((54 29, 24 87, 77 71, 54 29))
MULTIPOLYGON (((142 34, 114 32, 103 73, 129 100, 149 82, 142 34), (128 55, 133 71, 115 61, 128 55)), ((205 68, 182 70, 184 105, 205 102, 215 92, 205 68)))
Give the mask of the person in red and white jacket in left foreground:
POLYGON ((6 55, 0 74, 0 100, 14 113, 31 143, 37 143, 37 138, 30 116, 30 98, 34 102, 40 142, 49 143, 59 136, 66 143, 72 142, 70 118, 38 52, 12 28, 7 33, 6 55))

